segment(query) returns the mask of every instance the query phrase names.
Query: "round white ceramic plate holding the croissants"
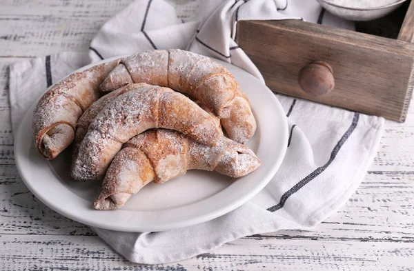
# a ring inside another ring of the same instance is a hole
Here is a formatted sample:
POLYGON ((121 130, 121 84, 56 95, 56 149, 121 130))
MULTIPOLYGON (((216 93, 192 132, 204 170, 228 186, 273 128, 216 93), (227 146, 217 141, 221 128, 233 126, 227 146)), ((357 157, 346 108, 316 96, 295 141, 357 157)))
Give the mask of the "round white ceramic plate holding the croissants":
POLYGON ((233 73, 253 108, 257 131, 247 145, 262 160, 255 172, 234 180, 216 172, 190 170, 162 185, 146 185, 119 210, 95 210, 92 202, 99 194, 100 183, 70 179, 70 148, 52 161, 41 158, 34 148, 31 128, 36 101, 21 122, 14 142, 14 158, 23 181, 56 212, 87 225, 119 231, 186 227, 215 219, 246 203, 266 186, 282 163, 288 144, 288 125, 282 106, 264 83, 229 63, 215 61, 233 73))

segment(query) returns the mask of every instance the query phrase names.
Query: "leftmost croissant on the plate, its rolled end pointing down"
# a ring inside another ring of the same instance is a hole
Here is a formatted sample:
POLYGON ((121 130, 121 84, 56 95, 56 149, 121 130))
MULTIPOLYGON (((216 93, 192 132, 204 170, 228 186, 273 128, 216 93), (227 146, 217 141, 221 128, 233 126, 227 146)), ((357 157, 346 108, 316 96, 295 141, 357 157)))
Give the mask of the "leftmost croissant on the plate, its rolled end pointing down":
POLYGON ((99 85, 118 63, 119 59, 71 74, 43 94, 32 120, 41 156, 54 159, 72 143, 79 117, 99 99, 99 85))

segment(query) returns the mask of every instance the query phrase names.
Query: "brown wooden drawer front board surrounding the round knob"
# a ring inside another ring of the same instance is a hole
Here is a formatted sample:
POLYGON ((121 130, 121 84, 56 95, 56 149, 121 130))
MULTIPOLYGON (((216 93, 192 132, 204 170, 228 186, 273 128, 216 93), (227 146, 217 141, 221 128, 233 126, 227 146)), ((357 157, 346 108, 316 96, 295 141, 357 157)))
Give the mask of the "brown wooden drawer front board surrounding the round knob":
POLYGON ((405 121, 413 44, 298 20, 240 21, 237 29, 237 43, 273 91, 405 121), (315 60, 329 63, 335 76, 335 89, 322 97, 297 83, 299 70, 315 60))

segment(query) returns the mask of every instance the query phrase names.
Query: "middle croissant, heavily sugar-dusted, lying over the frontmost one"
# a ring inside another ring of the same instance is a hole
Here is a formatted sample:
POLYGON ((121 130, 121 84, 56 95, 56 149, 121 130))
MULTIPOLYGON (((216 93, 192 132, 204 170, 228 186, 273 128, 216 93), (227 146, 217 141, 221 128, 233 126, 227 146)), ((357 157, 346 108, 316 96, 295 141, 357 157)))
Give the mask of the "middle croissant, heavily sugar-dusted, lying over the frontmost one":
POLYGON ((80 181, 102 179, 122 144, 151 128, 177 130, 212 146, 222 135, 213 117, 183 94, 143 84, 97 114, 79 146, 71 176, 80 181))

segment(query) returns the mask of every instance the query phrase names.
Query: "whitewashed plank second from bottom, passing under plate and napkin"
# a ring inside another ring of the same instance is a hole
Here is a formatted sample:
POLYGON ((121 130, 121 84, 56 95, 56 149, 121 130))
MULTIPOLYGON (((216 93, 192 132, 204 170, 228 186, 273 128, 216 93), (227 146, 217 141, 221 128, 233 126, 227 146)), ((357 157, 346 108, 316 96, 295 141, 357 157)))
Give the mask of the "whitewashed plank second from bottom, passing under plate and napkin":
MULTIPOLYGON (((95 235, 85 225, 57 214, 33 197, 14 165, 0 165, 0 172, 0 235, 95 235)), ((262 237, 414 241, 413 181, 414 172, 371 172, 346 206, 315 230, 274 232, 262 237)))

